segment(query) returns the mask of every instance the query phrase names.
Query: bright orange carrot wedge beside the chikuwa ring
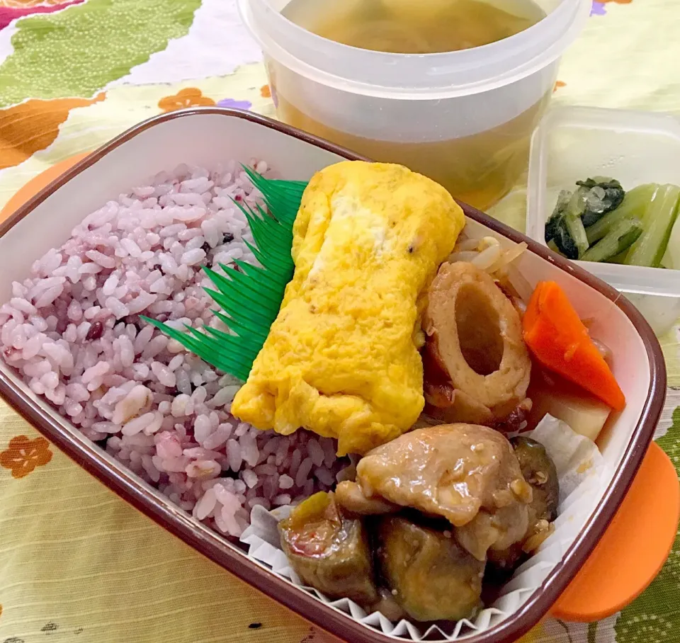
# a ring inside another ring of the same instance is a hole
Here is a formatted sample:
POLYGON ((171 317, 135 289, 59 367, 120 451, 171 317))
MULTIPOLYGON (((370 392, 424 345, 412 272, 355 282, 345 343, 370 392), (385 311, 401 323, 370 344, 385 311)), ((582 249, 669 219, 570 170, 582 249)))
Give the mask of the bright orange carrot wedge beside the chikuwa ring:
POLYGON ((557 283, 538 283, 522 324, 526 345, 545 368, 583 387, 616 411, 623 409, 621 387, 557 283))

